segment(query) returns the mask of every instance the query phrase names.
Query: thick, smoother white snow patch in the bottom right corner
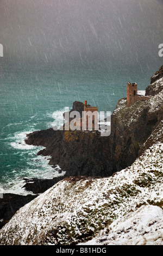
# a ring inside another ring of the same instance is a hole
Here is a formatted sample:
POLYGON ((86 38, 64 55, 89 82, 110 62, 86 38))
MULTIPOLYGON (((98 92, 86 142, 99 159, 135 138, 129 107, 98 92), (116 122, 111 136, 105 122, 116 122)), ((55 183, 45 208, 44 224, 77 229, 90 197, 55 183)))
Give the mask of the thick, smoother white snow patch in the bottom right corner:
POLYGON ((143 205, 112 222, 109 233, 79 245, 162 245, 163 210, 143 205))

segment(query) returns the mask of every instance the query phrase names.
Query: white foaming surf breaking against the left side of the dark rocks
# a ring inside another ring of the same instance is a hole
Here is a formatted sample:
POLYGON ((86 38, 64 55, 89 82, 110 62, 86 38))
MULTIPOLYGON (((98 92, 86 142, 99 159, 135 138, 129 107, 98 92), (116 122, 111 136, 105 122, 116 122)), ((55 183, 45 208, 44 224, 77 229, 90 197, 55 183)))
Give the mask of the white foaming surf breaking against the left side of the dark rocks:
MULTIPOLYGON (((59 109, 52 113, 47 113, 46 118, 52 118, 52 122, 45 122, 47 128, 55 126, 56 124, 54 124, 54 122, 57 120, 59 129, 65 121, 63 118, 64 112, 65 109, 59 109)), ((30 119, 34 120, 36 116, 37 115, 33 115, 30 119)), ((45 117, 42 117, 41 120, 42 119, 45 119, 45 117)), ((7 126, 15 126, 22 123, 23 122, 10 123, 7 126)), ((3 184, 0 185, 2 185, 4 193, 29 194, 30 192, 22 188, 24 186, 24 178, 53 179, 54 177, 64 176, 66 173, 62 171, 59 166, 54 167, 48 164, 51 156, 37 155, 37 153, 45 147, 28 145, 24 141, 28 133, 32 133, 36 130, 35 125, 37 124, 27 124, 27 130, 17 131, 14 135, 10 134, 7 138, 3 139, 11 149, 14 149, 12 155, 20 155, 20 159, 18 159, 15 166, 12 166, 9 173, 6 172, 2 177, 3 184)))

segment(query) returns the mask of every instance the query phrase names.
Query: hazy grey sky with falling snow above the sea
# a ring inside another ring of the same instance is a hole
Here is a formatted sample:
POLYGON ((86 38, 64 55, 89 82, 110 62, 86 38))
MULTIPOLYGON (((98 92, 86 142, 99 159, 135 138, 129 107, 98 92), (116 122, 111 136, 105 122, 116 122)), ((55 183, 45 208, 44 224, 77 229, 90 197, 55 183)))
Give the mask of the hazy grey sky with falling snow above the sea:
POLYGON ((162 25, 162 0, 0 0, 10 63, 160 62, 162 25))

